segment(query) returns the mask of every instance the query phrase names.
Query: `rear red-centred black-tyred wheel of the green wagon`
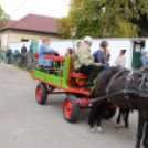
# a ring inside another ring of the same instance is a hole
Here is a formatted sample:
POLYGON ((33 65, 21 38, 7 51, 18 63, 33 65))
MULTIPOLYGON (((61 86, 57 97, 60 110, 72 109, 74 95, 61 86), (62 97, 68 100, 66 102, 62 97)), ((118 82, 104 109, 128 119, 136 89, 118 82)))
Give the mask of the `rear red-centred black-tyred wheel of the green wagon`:
POLYGON ((46 86, 43 83, 40 83, 36 86, 35 97, 36 97, 36 102, 40 105, 44 105, 46 103, 46 99, 47 99, 47 88, 46 88, 46 86))

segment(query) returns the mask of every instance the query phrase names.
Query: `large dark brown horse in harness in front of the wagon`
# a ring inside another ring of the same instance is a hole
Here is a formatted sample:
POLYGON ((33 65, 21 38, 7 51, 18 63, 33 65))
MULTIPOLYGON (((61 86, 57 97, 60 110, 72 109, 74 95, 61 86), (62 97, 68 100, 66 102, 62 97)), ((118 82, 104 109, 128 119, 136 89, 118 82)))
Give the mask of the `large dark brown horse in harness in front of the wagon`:
POLYGON ((137 144, 140 147, 140 140, 145 128, 144 146, 148 148, 148 78, 146 75, 130 72, 128 70, 119 70, 109 67, 99 73, 96 84, 96 94, 94 104, 91 108, 89 124, 91 131, 95 131, 95 123, 97 123, 97 133, 103 133, 102 115, 110 103, 118 105, 123 109, 139 112, 137 144), (130 92, 127 92, 130 91, 130 92), (117 95, 112 95, 116 94, 117 95), (125 93, 124 93, 125 92, 125 93), (103 96, 107 98, 104 99, 103 96), (103 99, 102 99, 102 98, 103 99))

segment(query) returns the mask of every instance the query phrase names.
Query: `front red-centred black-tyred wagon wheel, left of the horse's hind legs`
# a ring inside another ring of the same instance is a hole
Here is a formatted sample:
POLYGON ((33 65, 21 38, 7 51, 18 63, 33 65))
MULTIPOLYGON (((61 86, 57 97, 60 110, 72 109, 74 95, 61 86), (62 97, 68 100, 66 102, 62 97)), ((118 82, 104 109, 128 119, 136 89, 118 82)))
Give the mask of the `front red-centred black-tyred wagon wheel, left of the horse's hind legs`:
POLYGON ((76 96, 67 95, 63 103, 63 115, 70 123, 75 123, 78 118, 80 106, 76 105, 76 96))

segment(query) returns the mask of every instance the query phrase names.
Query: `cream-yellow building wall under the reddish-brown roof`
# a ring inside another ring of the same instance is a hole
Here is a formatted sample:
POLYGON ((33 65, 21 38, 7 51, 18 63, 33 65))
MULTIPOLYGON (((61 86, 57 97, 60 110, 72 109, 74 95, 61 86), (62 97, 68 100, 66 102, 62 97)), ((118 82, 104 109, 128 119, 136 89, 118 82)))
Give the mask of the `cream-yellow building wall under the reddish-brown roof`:
MULTIPOLYGON (((8 31, 2 31, 1 33, 1 49, 7 50, 8 42, 9 43, 21 42, 21 39, 33 40, 38 42, 40 39, 44 36, 49 36, 51 41, 61 40, 59 35, 54 35, 54 34, 20 31, 20 30, 8 30, 8 31)), ((8 47, 10 47, 9 43, 8 43, 8 47)))

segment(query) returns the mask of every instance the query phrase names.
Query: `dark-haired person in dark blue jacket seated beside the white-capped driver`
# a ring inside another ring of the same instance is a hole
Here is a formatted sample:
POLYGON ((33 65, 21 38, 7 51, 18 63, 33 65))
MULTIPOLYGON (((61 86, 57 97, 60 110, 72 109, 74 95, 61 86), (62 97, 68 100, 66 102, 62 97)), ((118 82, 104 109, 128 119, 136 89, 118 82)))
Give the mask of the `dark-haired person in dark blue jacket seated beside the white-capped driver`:
POLYGON ((93 54, 95 63, 101 63, 104 68, 109 67, 108 62, 110 59, 110 51, 107 50, 107 47, 108 47, 108 43, 106 41, 103 41, 99 44, 99 50, 97 50, 93 54))

